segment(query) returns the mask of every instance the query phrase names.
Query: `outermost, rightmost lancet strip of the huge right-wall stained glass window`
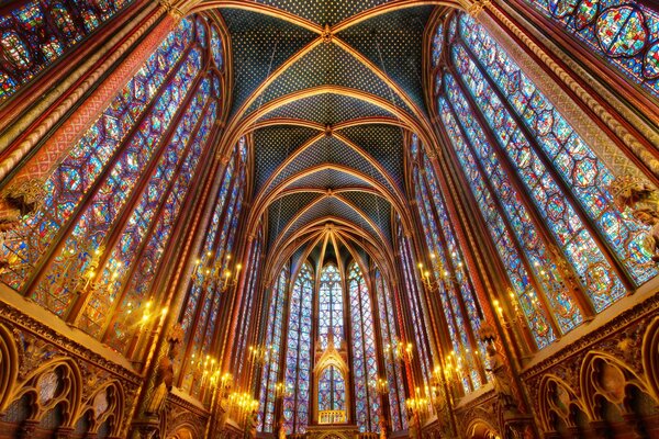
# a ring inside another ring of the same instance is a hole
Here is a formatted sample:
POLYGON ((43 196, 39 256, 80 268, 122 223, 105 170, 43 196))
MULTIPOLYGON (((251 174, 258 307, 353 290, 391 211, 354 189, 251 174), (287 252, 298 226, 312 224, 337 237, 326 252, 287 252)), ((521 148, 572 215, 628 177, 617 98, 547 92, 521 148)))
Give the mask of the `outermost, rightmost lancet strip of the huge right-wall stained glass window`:
MULTIPOLYGON (((647 227, 621 214, 614 205, 613 195, 606 189, 614 178, 611 171, 482 26, 466 15, 460 21, 466 46, 476 54, 478 61, 494 80, 635 281, 643 283, 654 278, 657 270, 648 263, 650 256, 643 247, 647 227)), ((630 21, 632 15, 627 18, 625 26, 630 21)), ((583 275, 581 272, 580 274, 583 275)), ((606 307, 622 294, 623 291, 614 292, 606 300, 602 297, 601 290, 590 291, 596 311, 606 307)))

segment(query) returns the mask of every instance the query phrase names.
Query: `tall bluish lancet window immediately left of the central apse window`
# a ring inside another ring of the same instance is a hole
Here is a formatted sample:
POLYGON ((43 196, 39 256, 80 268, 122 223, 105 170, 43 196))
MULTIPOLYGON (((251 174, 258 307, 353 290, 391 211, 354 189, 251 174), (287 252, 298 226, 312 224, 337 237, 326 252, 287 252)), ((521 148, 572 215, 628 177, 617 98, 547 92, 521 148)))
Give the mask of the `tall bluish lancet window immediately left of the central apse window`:
POLYGON ((287 434, 306 431, 310 421, 313 279, 311 266, 304 262, 291 292, 284 374, 286 386, 291 392, 283 397, 287 434))

